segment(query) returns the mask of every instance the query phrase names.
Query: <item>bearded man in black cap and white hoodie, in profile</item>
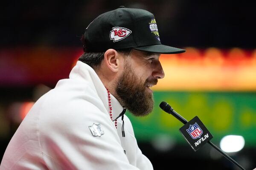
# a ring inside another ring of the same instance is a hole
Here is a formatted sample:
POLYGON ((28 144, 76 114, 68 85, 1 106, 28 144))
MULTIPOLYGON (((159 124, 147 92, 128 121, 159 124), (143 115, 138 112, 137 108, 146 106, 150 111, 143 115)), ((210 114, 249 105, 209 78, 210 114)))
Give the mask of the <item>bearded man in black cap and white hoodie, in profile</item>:
POLYGON ((153 109, 151 86, 164 77, 154 15, 124 8, 99 15, 83 35, 84 54, 32 107, 10 141, 1 170, 152 170, 126 109, 153 109))

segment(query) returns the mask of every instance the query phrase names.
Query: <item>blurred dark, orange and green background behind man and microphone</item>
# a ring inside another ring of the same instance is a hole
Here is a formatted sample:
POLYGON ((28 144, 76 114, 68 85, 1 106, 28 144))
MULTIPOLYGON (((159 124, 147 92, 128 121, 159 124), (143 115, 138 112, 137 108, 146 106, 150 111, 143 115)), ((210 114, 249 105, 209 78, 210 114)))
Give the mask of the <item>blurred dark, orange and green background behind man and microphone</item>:
MULTIPOLYGON (((255 6, 225 0, 66 0, 0 3, 0 158, 34 102, 68 78, 83 53, 80 36, 99 14, 119 6, 155 15, 165 78, 154 111, 128 116, 154 169, 237 170, 208 144, 194 152, 183 126, 159 108, 168 102, 188 121, 198 116, 211 140, 245 169, 256 167, 255 6)), ((0 160, 1 160, 0 159, 0 160)))

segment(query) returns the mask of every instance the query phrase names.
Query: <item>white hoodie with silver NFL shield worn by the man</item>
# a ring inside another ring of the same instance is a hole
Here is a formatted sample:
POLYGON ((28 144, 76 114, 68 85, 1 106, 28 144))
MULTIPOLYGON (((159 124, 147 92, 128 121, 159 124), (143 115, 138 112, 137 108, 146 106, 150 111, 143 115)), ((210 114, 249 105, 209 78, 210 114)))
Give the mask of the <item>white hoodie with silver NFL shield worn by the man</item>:
MULTIPOLYGON (((110 96, 114 120, 123 108, 110 96)), ((0 170, 152 170, 128 117, 124 115, 125 137, 121 117, 117 129, 114 122, 105 86, 90 66, 78 61, 70 78, 60 80, 29 111, 0 170)))

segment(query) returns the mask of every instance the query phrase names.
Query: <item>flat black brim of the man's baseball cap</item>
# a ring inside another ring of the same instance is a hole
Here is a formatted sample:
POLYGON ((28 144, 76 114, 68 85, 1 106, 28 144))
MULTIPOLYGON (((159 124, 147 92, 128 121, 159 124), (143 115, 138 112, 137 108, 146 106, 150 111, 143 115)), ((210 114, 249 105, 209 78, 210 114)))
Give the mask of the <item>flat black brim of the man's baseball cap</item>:
POLYGON ((133 48, 140 51, 148 51, 148 52, 161 53, 161 54, 178 54, 186 51, 184 49, 170 47, 162 44, 147 45, 143 47, 133 47, 133 48))

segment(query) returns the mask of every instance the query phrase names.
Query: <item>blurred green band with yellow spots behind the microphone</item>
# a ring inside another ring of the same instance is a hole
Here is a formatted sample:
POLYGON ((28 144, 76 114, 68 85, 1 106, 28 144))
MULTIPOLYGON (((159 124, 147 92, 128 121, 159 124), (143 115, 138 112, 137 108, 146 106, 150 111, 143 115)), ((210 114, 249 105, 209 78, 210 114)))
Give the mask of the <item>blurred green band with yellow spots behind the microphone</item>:
POLYGON ((159 107, 165 101, 187 121, 198 116, 212 133, 212 142, 217 144, 226 135, 241 135, 245 147, 256 147, 256 92, 155 91, 154 101, 148 116, 127 113, 138 141, 150 141, 161 134, 186 143, 179 132, 183 124, 159 107))

